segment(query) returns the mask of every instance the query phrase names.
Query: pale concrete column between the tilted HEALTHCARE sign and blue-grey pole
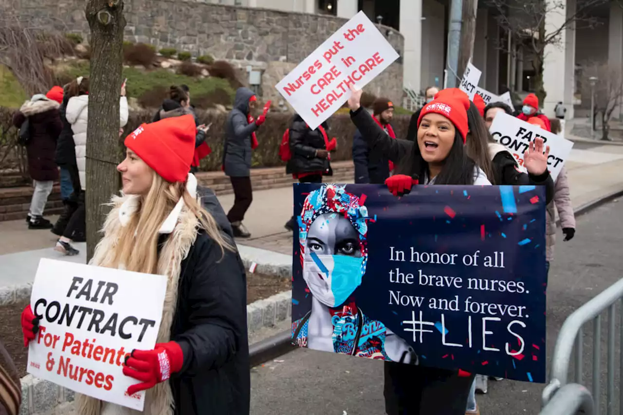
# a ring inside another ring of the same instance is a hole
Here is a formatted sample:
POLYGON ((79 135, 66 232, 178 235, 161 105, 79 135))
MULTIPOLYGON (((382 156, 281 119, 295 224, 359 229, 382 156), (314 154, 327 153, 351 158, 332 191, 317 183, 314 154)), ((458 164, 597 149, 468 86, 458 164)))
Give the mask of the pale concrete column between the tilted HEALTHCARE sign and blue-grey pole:
POLYGON ((402 82, 416 93, 422 88, 422 1, 400 0, 400 32, 404 36, 402 82))

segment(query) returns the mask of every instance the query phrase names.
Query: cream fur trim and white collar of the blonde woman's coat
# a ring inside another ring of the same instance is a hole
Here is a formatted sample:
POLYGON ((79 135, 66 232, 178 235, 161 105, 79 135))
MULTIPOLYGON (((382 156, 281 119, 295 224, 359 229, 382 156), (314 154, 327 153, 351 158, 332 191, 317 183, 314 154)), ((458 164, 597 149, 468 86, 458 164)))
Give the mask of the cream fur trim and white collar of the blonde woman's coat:
MULTIPOLYGON (((186 189, 191 196, 196 197, 197 179, 193 174, 188 175, 186 189)), ((111 203, 113 208, 108 213, 103 226, 104 237, 97 244, 95 254, 90 265, 110 263, 118 238, 123 226, 130 222, 130 218, 138 207, 138 196, 115 196, 111 203)), ((158 330, 156 343, 166 343, 171 340, 171 327, 178 300, 178 283, 182 261, 197 239, 199 220, 189 211, 183 199, 173 208, 171 214, 160 227, 159 233, 169 234, 168 239, 158 256, 157 274, 168 277, 166 294, 164 296, 162 322, 158 330)), ((138 383, 138 381, 137 381, 138 383)), ((78 413, 80 415, 133 415, 138 414, 122 406, 77 394, 78 413)), ((146 392, 146 415, 173 415, 174 399, 171 386, 168 382, 158 383, 146 392)))

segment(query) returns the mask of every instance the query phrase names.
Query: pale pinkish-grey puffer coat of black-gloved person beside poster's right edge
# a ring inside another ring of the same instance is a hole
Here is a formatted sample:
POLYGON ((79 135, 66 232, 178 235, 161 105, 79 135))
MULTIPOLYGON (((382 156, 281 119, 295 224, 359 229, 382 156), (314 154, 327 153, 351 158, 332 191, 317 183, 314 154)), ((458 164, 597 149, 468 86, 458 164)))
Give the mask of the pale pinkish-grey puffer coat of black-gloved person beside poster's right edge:
POLYGON ((545 241, 547 249, 545 257, 548 261, 554 259, 554 244, 556 244, 556 212, 554 207, 558 209, 558 216, 560 216, 560 224, 563 229, 566 227, 576 228, 576 217, 573 214, 573 205, 569 194, 567 170, 564 167, 558 174, 554 186, 554 200, 549 202, 546 212, 545 241))

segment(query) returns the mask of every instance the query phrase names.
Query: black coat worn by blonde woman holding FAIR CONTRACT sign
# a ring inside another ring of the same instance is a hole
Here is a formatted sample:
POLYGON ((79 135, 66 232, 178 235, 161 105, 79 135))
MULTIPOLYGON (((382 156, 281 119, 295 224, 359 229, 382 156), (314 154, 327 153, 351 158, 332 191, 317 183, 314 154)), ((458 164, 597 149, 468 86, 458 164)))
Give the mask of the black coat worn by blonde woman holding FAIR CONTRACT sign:
POLYGON ((184 353, 181 371, 169 380, 176 415, 249 414, 246 302, 240 255, 222 253, 199 232, 182 262, 171 328, 171 340, 184 353))

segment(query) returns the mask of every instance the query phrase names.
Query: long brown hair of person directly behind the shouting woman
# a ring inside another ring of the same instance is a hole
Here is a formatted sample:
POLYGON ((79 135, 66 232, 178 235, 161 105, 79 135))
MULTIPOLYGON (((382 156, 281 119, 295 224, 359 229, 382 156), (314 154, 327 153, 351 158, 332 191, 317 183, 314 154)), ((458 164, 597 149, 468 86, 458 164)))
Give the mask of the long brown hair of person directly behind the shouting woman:
POLYGON ((478 107, 471 101, 467 110, 467 125, 469 132, 465 141, 465 151, 478 167, 485 172, 489 181, 495 183, 495 171, 488 146, 488 143, 495 143, 495 140, 493 140, 493 137, 487 130, 485 120, 480 117, 478 107))

